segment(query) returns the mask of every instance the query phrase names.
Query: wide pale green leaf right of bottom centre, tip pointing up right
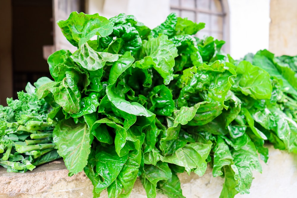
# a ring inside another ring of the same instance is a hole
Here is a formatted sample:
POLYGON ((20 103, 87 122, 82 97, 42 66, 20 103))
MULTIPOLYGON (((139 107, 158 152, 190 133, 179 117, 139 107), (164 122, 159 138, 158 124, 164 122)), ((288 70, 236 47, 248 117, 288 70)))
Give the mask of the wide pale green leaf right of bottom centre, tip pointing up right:
POLYGON ((183 148, 179 148, 172 155, 164 156, 162 161, 185 167, 188 174, 192 169, 195 173, 202 176, 206 171, 206 158, 210 152, 212 143, 190 143, 183 148))

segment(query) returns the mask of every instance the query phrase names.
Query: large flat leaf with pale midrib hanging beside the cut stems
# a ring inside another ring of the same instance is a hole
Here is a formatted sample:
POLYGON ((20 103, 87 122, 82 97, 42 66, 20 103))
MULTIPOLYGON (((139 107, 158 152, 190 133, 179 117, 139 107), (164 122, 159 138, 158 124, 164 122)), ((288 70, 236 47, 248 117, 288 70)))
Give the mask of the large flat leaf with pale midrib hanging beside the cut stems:
POLYGON ((53 130, 53 142, 63 157, 69 176, 81 172, 90 153, 90 132, 86 123, 61 120, 53 130))

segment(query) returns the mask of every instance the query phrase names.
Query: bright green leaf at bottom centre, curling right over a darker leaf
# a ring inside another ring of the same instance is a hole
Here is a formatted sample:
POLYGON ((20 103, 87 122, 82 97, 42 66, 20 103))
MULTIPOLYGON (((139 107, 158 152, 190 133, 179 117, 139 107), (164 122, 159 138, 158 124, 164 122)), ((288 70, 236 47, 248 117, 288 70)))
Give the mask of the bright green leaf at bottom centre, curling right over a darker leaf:
POLYGON ((140 180, 146 190, 146 196, 155 198, 158 181, 172 178, 171 170, 168 164, 162 161, 158 161, 156 166, 145 164, 143 170, 140 180))

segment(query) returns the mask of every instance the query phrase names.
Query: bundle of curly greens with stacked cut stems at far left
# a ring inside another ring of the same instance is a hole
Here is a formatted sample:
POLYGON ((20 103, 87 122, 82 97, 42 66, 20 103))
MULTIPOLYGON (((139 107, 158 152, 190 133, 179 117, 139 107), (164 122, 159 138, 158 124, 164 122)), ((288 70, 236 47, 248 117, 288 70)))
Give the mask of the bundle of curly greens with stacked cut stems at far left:
POLYGON ((0 165, 8 172, 26 172, 61 158, 52 141, 53 124, 47 122, 49 104, 37 99, 30 83, 26 92, 7 99, 7 107, 0 105, 0 165))

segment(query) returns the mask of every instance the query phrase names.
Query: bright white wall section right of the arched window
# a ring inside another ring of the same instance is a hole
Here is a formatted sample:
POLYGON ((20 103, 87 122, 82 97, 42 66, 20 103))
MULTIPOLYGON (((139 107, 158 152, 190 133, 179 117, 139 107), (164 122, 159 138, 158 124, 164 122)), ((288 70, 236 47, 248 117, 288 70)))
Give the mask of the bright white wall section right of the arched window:
POLYGON ((228 0, 228 4, 230 55, 238 59, 268 49, 270 0, 228 0))

